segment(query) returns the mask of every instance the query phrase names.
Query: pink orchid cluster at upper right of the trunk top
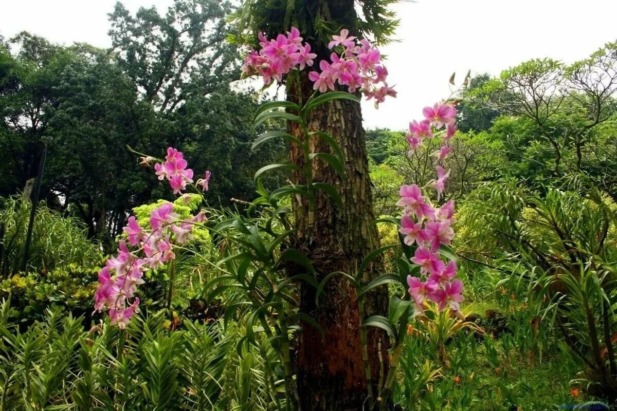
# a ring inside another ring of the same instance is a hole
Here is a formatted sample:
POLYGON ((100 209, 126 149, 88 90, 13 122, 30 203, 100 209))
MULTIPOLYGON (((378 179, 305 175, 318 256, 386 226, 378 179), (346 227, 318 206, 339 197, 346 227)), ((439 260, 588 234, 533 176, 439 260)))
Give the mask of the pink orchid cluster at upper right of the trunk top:
POLYGON ((342 53, 333 52, 329 63, 321 60, 321 73, 309 73, 309 78, 315 83, 314 89, 319 89, 320 92, 334 90, 335 83, 347 86, 350 93, 360 89, 366 100, 375 99, 375 107, 383 103, 387 96, 396 97, 394 88, 387 85, 387 68, 381 62, 381 53, 377 47, 372 46, 366 39, 357 41, 355 36, 349 36, 347 29, 341 30, 339 36, 332 38, 328 48, 342 47, 342 53))

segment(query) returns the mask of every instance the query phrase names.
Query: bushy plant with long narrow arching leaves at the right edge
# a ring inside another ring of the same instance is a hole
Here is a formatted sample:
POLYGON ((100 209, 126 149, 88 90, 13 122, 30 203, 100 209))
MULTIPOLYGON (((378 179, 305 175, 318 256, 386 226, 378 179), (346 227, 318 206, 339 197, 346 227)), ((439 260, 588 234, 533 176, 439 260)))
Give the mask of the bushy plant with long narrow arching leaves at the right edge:
POLYGON ((503 272, 498 286, 524 296, 534 321, 566 341, 591 381, 589 392, 615 401, 616 208, 586 187, 586 195, 548 189, 540 197, 487 185, 476 193, 482 200, 459 214, 482 238, 470 235, 459 250, 503 272))

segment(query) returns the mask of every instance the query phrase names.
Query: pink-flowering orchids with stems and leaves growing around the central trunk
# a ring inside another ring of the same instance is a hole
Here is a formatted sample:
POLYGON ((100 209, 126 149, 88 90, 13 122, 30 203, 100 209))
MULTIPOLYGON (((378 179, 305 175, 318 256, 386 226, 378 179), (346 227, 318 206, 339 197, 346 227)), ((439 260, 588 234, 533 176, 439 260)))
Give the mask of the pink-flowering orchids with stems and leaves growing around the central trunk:
MULTIPOLYGON (((285 76, 292 70, 304 70, 313 67, 317 55, 311 52, 310 44, 303 43, 299 30, 292 27, 286 35, 278 35, 276 39, 268 39, 263 33, 259 34, 259 51, 252 51, 244 60, 244 75, 259 75, 264 84, 273 81, 283 82, 285 76)), ((312 96, 302 104, 288 101, 273 101, 263 104, 257 111, 254 119, 255 126, 265 121, 278 118, 292 121, 299 125, 304 133, 303 136, 291 136, 283 131, 268 131, 261 134, 254 142, 257 147, 263 142, 273 138, 283 138, 297 144, 304 151, 304 166, 292 164, 274 164, 260 168, 255 173, 258 193, 261 197, 254 200, 249 211, 256 207, 274 210, 268 224, 261 226, 258 223, 250 224, 244 218, 238 217, 219 222, 215 226, 205 224, 205 212, 200 211, 196 216, 189 219, 178 218, 173 213, 170 203, 164 203, 151 213, 150 229, 140 227, 134 217, 129 218, 128 226, 124 228, 128 244, 133 247, 129 250, 126 242, 120 242, 117 256, 107 260, 106 266, 99 273, 99 287, 95 296, 95 309, 97 311, 109 310, 111 324, 125 327, 131 316, 139 309, 139 298, 136 297, 137 286, 144 282, 143 274, 147 270, 156 269, 175 258, 174 249, 182 247, 191 237, 194 226, 203 226, 212 232, 223 235, 226 240, 234 244, 234 253, 228 251, 228 256, 217 264, 213 264, 222 271, 216 279, 205 285, 212 288, 209 298, 220 295, 228 288, 236 288, 244 291, 246 301, 238 304, 249 304, 254 311, 246 323, 246 339, 240 343, 254 344, 255 322, 262 327, 260 332, 265 333, 267 341, 280 355, 280 362, 285 372, 286 407, 292 404, 292 394, 296 396, 292 380, 291 356, 289 352, 289 333, 294 332, 297 326, 294 322, 302 320, 313 327, 320 326, 309 315, 300 312, 290 313, 287 308, 294 299, 286 293, 286 287, 294 281, 304 281, 317 288, 317 299, 323 292, 325 283, 334 275, 344 275, 358 290, 358 306, 361 315, 363 313, 363 298, 368 291, 387 283, 400 286, 407 284, 407 292, 404 295, 392 296, 389 315, 382 317, 373 315, 363 320, 361 336, 363 339, 363 357, 366 354, 365 327, 378 327, 386 330, 395 341, 392 348, 391 366, 385 385, 378 396, 373 396, 371 384, 368 384, 370 401, 378 398, 380 409, 384 409, 386 399, 392 392, 395 372, 398 366, 398 357, 404 341, 404 335, 410 319, 414 316, 423 315, 428 318, 431 309, 429 304, 435 304, 437 311, 449 309, 450 312, 461 316, 458 303, 463 300, 463 284, 458 279, 453 279, 457 274, 456 256, 450 250, 449 245, 454 232, 452 224, 454 205, 453 202, 445 201, 437 206, 442 200, 445 184, 449 177, 449 171, 442 168, 443 160, 450 153, 449 140, 456 131, 456 109, 453 104, 443 102, 426 107, 423 110, 424 119, 420 122, 412 121, 407 133, 407 141, 410 144, 410 153, 423 147, 424 139, 439 138, 444 145, 434 153, 436 178, 420 187, 417 184, 403 185, 400 187, 400 200, 397 205, 403 208, 400 218, 389 218, 386 221, 394 222, 399 226, 400 245, 388 245, 373 251, 360 265, 355 275, 336 272, 331 273, 317 283, 315 269, 309 259, 298 250, 286 246, 283 252, 279 251, 281 243, 292 235, 294 230, 289 227, 289 221, 284 217, 288 208, 280 206, 278 200, 281 197, 302 195, 309 203, 309 230, 315 219, 316 192, 321 190, 329 195, 336 203, 341 202, 341 197, 336 188, 326 182, 313 181, 313 161, 325 161, 331 166, 345 182, 344 157, 341 148, 332 136, 325 132, 309 132, 307 116, 315 108, 335 99, 347 99, 359 102, 355 95, 363 94, 367 100, 375 100, 378 106, 386 97, 395 97, 396 92, 387 83, 387 69, 381 61, 379 50, 365 39, 358 40, 349 36, 349 31, 341 30, 340 35, 334 35, 329 43, 333 49, 330 61, 319 62, 320 71, 310 71, 308 77, 313 82, 312 96), (335 91, 336 85, 347 87, 348 92, 335 91), (321 94, 320 94, 321 93, 321 94), (282 109, 282 110, 281 110, 282 109), (321 139, 326 142, 332 153, 315 153, 311 151, 311 139, 321 139), (267 192, 260 182, 259 177, 276 169, 289 169, 296 173, 304 174, 305 184, 289 184, 272 192, 267 192), (434 192, 434 195, 431 195, 434 192), (431 201, 433 198, 433 201, 431 201), (284 228, 283 232, 276 232, 271 222, 274 219, 280 221, 284 228), (233 232, 230 233, 230 230, 233 232), (270 236, 270 240, 265 240, 270 236), (394 246, 400 246, 404 251, 404 257, 400 260, 400 272, 398 275, 385 274, 368 284, 362 284, 363 271, 368 264, 379 254, 394 246), (447 261, 443 261, 445 257, 447 261), (286 278, 281 263, 294 261, 306 269, 305 274, 286 278), (250 274, 249 274, 250 272, 250 274), (282 273, 282 274, 280 274, 282 273), (222 285, 223 282, 228 282, 222 285), (263 283, 270 287, 270 292, 255 293, 257 284, 263 283), (286 304, 284 304, 286 303, 286 304), (294 328, 296 327, 296 328, 294 328)), ((183 158, 183 153, 170 147, 164 160, 154 157, 143 156, 141 163, 150 165, 154 162, 154 171, 159 180, 166 180, 170 184, 173 193, 186 195, 183 192, 188 187, 193 187, 197 192, 203 192, 209 188, 210 172, 205 171, 204 177, 193 181, 194 173, 187 168, 188 163, 183 158)), ((281 248, 282 249, 282 248, 281 248)), ((230 312, 238 309, 238 304, 231 304, 230 312)), ((230 313, 226 313, 226 317, 230 313)), ((263 350, 262 350, 263 351, 263 350)), ((368 360, 365 360, 366 377, 370 380, 371 372, 368 360)), ((269 388, 276 391, 275 380, 272 370, 268 373, 269 388)), ((373 403, 375 404, 375 403, 373 403)))

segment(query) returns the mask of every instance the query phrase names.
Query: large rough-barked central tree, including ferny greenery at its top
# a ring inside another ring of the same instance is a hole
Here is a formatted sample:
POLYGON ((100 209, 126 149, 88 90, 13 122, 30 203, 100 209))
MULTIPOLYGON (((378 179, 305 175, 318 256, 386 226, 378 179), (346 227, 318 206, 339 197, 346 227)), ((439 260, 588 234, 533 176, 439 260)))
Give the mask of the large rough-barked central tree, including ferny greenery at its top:
MULTIPOLYGON (((387 41, 397 25, 387 6, 393 1, 368 0, 359 2, 362 10, 358 15, 353 0, 321 0, 287 2, 246 2, 239 12, 239 33, 242 39, 255 42, 257 32, 276 37, 293 25, 299 28, 303 38, 309 41, 317 60, 327 59, 327 45, 331 36, 341 28, 352 35, 387 41)), ((286 78, 286 96, 291 102, 305 102, 313 93, 313 84, 307 71, 300 76, 286 78)), ((379 241, 372 222, 373 204, 368 160, 365 149, 365 132, 362 128, 360 105, 341 100, 321 105, 307 118, 310 131, 323 131, 333 136, 345 153, 346 184, 341 184, 336 173, 325 164, 313 163, 315 181, 333 184, 342 198, 337 207, 331 197, 317 195, 317 210, 314 219, 310 216, 307 201, 294 202, 297 235, 296 248, 310 259, 318 280, 331 272, 354 273, 363 258, 378 248, 379 241)), ((303 133, 296 124, 288 124, 292 136, 302 139, 303 133)), ((329 147, 315 138, 310 142, 312 150, 323 152, 329 147)), ((291 145, 291 161, 303 166, 303 151, 291 145)), ((294 184, 304 184, 304 176, 295 176, 294 184)), ((365 279, 375 277, 381 264, 373 264, 364 274, 365 279)), ((290 273, 292 274, 292 273, 290 273)), ((366 301, 366 314, 383 314, 387 306, 387 289, 375 291, 366 301)), ((300 408, 310 410, 361 410, 375 404, 365 404, 367 382, 363 372, 362 346, 360 343, 360 319, 355 289, 344 279, 331 280, 320 304, 315 303, 315 289, 302 285, 300 311, 312 315, 324 330, 322 336, 315 328, 303 327, 300 336, 297 360, 297 385, 300 408)), ((378 380, 380 366, 387 372, 387 338, 376 330, 369 332, 370 364, 374 381, 378 380)), ((376 393, 379 387, 374 387, 376 393)))

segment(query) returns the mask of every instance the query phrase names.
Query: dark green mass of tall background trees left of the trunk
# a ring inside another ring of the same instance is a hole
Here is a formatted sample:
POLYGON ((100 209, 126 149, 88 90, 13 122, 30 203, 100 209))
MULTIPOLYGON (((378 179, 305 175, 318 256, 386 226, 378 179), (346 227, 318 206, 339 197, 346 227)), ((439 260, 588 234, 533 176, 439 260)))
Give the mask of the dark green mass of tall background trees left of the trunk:
POLYGON ((135 167, 126 145, 183 150, 196 176, 208 169, 217 179, 207 193, 213 204, 249 197, 258 165, 280 157, 284 145, 251 153, 259 101, 230 89, 240 61, 224 40, 230 10, 226 2, 177 0, 164 15, 154 7, 131 15, 118 2, 109 15, 111 51, 29 33, 10 39, 19 52, 0 44, 0 196, 24 189, 48 145, 42 198, 79 216, 106 250, 133 207, 171 200, 152 173, 135 167))

